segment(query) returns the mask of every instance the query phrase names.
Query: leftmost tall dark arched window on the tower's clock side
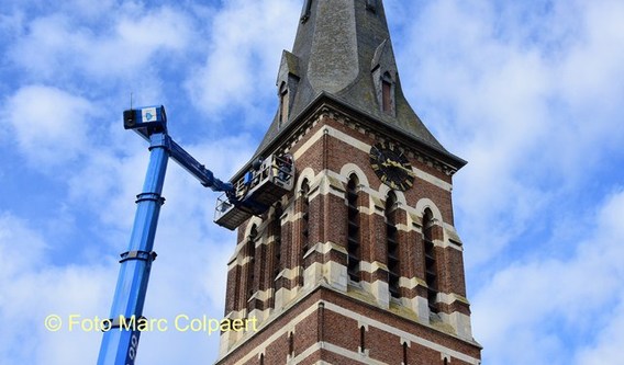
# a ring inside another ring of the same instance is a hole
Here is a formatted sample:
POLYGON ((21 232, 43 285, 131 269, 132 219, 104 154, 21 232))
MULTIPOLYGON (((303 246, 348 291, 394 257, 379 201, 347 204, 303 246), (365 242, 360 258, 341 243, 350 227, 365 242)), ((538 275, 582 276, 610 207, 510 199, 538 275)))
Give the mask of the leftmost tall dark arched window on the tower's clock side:
POLYGON ((359 241, 359 199, 357 186, 359 181, 355 174, 347 183, 347 273, 352 281, 359 282, 359 262, 361 260, 359 241))

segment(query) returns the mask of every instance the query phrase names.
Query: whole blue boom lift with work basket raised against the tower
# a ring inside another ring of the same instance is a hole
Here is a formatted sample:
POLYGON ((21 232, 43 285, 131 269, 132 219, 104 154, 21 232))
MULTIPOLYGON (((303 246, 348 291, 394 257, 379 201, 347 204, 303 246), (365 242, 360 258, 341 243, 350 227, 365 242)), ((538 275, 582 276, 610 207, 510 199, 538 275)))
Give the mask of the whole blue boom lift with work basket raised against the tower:
POLYGON ((146 106, 123 112, 124 128, 133 129, 149 141, 149 166, 137 195, 136 215, 127 251, 121 254, 121 267, 111 308, 110 326, 104 329, 98 365, 134 364, 152 262, 160 196, 169 158, 196 176, 203 186, 223 192, 214 221, 235 229, 254 215, 261 215, 293 187, 294 164, 290 155, 271 155, 253 164, 234 183, 223 182, 176 144, 167 133, 164 106, 146 106))

